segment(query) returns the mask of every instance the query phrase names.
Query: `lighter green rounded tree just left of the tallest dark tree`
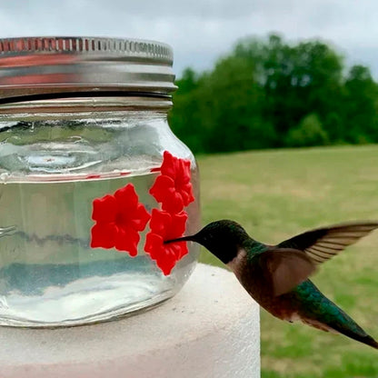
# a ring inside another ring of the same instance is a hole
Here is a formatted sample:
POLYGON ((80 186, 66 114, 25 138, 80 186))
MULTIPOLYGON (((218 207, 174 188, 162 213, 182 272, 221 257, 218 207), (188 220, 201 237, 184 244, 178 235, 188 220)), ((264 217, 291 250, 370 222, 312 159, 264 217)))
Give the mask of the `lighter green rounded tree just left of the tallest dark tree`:
POLYGON ((200 92, 206 146, 223 152, 269 146, 274 137, 264 128, 264 92, 254 80, 254 64, 234 56, 218 62, 200 92))

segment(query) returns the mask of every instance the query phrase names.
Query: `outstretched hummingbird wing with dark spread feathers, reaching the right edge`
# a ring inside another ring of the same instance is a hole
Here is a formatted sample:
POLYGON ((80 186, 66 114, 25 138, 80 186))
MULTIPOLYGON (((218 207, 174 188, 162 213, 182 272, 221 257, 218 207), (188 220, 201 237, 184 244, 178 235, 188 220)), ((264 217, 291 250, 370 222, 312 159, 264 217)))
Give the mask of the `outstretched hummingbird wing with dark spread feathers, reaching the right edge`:
POLYGON ((277 247, 303 251, 314 264, 323 264, 376 228, 378 222, 335 224, 299 234, 278 244, 277 247))

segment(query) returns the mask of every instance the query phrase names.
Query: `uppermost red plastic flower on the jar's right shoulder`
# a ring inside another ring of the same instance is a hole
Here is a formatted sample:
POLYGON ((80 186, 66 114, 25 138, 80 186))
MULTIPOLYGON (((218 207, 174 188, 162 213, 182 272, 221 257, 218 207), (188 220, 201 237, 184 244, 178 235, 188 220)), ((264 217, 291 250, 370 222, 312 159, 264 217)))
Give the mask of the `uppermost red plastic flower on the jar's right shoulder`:
POLYGON ((194 201, 190 180, 190 161, 164 151, 161 174, 156 177, 150 194, 157 202, 162 203, 164 211, 180 213, 184 206, 194 201))

